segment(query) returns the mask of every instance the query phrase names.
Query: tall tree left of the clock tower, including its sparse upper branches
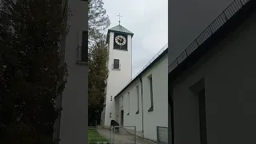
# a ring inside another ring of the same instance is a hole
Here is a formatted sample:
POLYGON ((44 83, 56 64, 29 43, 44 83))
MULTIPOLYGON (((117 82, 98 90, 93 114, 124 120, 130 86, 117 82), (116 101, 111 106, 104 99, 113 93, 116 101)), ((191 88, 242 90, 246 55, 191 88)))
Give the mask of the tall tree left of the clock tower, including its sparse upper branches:
POLYGON ((106 15, 103 5, 102 0, 90 0, 89 4, 88 114, 90 123, 100 122, 103 102, 106 96, 108 50, 104 30, 110 26, 110 19, 106 15))

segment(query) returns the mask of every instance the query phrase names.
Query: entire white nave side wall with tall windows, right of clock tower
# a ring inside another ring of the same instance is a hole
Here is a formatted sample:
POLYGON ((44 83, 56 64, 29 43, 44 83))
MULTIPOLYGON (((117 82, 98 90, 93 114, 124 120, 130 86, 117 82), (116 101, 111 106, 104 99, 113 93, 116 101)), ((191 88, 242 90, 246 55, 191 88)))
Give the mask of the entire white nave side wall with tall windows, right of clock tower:
MULTIPOLYGON (((126 90, 119 94, 118 101, 118 122, 120 123, 120 115, 122 110, 122 96, 124 97, 124 126, 136 126, 137 133, 142 136, 142 110, 143 110, 143 127, 144 138, 157 141, 156 126, 168 127, 168 56, 159 60, 150 70, 142 74, 142 83, 138 78, 126 90), (153 97, 154 97, 154 111, 149 112, 150 108, 150 85, 148 76, 152 74, 153 78, 153 97), (139 114, 138 98, 136 86, 139 86, 139 114), (142 90, 142 91, 141 91, 142 90), (128 92, 130 92, 130 110, 128 92), (143 107, 142 107, 143 106, 143 107), (129 115, 127 115, 129 113, 129 115)), ((116 103, 117 104, 117 103, 116 103)))

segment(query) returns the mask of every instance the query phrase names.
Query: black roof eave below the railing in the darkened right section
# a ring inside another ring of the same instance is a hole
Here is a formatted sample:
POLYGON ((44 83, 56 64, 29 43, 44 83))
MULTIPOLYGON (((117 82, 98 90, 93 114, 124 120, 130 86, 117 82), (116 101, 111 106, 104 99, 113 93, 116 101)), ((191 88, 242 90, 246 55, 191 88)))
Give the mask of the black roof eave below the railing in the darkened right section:
POLYGON ((184 59, 178 66, 171 70, 168 74, 168 85, 174 85, 174 82, 182 75, 184 72, 189 69, 191 66, 194 66, 196 62, 199 61, 207 52, 212 50, 216 43, 222 41, 230 32, 236 30, 238 26, 244 22, 246 18, 250 16, 255 10, 256 1, 250 1, 246 3, 241 10, 238 11, 237 14, 234 14, 233 18, 230 18, 228 22, 223 24, 218 30, 215 31, 214 34, 210 36, 210 38, 206 39, 205 42, 198 46, 197 50, 194 50, 188 58, 184 59))

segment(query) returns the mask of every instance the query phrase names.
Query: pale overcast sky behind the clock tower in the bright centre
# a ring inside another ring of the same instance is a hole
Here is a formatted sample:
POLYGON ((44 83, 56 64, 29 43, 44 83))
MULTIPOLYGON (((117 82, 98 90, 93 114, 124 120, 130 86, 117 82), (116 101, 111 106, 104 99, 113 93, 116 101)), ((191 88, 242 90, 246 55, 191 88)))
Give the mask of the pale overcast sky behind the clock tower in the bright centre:
POLYGON ((103 0, 110 28, 121 25, 134 33, 133 77, 168 42, 168 0, 103 0))

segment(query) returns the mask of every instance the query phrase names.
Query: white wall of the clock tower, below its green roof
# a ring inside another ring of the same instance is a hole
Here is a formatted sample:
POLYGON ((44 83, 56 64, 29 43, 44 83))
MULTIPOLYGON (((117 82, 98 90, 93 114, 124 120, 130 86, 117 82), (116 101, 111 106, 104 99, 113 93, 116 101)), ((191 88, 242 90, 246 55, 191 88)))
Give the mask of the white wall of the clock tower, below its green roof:
POLYGON ((111 120, 114 120, 115 110, 114 110, 114 100, 110 101, 110 97, 114 99, 114 96, 118 94, 123 87, 130 82, 132 78, 131 73, 131 35, 127 37, 127 49, 124 50, 114 50, 114 33, 110 32, 110 42, 109 42, 109 76, 107 79, 106 87, 106 111, 105 111, 105 126, 110 126, 111 120), (114 59, 119 59, 121 70, 113 70, 114 59), (110 113, 112 118, 110 118, 110 113))

